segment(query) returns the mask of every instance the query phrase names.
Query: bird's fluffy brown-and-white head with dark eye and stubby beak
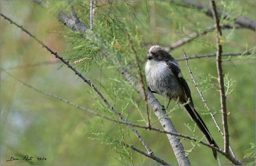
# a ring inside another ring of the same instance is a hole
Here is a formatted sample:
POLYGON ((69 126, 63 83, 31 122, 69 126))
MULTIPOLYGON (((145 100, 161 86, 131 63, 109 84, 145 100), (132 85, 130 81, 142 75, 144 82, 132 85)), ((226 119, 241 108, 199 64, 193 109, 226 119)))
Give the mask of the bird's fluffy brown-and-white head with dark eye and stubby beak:
POLYGON ((156 45, 149 48, 147 59, 155 61, 166 61, 173 58, 164 48, 156 45))

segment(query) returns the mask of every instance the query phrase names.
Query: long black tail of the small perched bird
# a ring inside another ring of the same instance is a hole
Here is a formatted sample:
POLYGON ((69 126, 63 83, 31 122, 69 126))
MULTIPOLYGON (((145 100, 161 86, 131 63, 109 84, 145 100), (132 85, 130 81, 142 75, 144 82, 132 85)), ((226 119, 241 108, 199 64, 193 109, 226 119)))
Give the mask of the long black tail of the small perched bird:
MULTIPOLYGON (((196 112, 196 110, 191 108, 189 104, 186 104, 184 106, 185 106, 186 110, 188 111, 188 114, 190 115, 190 117, 196 122, 196 125, 204 133, 207 141, 210 144, 213 144, 216 148, 219 148, 218 145, 216 144, 216 142, 213 140, 213 138, 212 138, 208 128, 204 124, 204 121, 201 119, 201 117, 196 112)), ((212 152, 213 152, 213 155, 214 155, 215 159, 217 159, 217 152, 216 152, 216 150, 212 149, 212 152)))

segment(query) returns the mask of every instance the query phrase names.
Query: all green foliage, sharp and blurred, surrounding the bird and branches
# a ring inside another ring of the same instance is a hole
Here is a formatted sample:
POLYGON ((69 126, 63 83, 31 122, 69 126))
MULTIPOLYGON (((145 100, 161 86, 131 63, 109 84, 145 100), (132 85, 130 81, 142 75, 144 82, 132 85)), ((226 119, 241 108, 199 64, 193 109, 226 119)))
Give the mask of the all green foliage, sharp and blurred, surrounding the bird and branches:
MULTIPOLYGON (((36 34, 47 46, 69 60, 78 71, 83 71, 84 76, 98 87, 125 119, 141 125, 147 124, 145 102, 135 87, 124 80, 116 69, 118 65, 123 68, 131 67, 134 71, 131 74, 140 82, 129 40, 132 40, 144 68, 147 50, 152 45, 168 47, 192 32, 214 26, 212 18, 204 14, 206 10, 198 10, 182 1, 96 1, 92 33, 100 40, 95 41, 86 33, 85 39, 81 38, 78 32, 72 32, 50 14, 59 8, 69 15, 68 2, 49 3, 52 7, 46 11, 31 1, 1 1, 1 13, 36 34), (113 55, 112 59, 104 57, 99 51, 100 47, 113 55), (75 64, 81 58, 85 59, 75 64), (120 64, 113 64, 114 58, 120 64)), ((221 25, 233 25, 234 19, 240 15, 255 20, 255 1, 218 1, 216 4, 218 9, 228 14, 228 19, 220 17, 221 25)), ((70 5, 74 6, 81 22, 90 27, 90 1, 72 1, 70 5)), ((255 53, 255 32, 246 28, 226 28, 222 31, 223 53, 247 50, 255 53)), ((214 30, 200 35, 183 47, 188 56, 215 53, 214 30)), ((174 58, 183 57, 181 47, 170 53, 174 58)), ((190 86, 196 110, 218 146, 223 149, 223 137, 190 80, 185 61, 179 61, 179 64, 190 86)), ((191 59, 189 64, 207 104, 221 126, 215 58, 191 59)), ((226 74, 230 144, 236 157, 246 164, 255 161, 255 153, 253 158, 251 152, 245 151, 251 148, 249 142, 255 142, 255 54, 223 57, 222 65, 226 74)), ((1 67, 40 90, 117 119, 91 87, 84 84, 70 69, 62 66, 35 40, 2 17, 1 67)), ((156 97, 161 104, 167 104, 167 98, 156 97)), ((153 110, 150 109, 151 124, 161 128, 158 119, 151 112, 153 110)), ((175 101, 171 102, 167 112, 177 132, 203 138, 198 128, 194 128, 187 113, 175 101)), ((177 164, 165 134, 136 129, 155 155, 166 162, 177 164)), ((44 96, 1 71, 1 164, 159 164, 124 147, 122 142, 146 151, 126 125, 107 121, 44 96), (34 159, 6 162, 11 157, 22 158, 24 155, 33 156, 34 159), (37 157, 47 159, 37 161, 37 157)), ((182 139, 182 144, 192 164, 217 164, 210 148, 185 139, 182 139)), ((231 164, 222 155, 220 160, 223 165, 231 164)))

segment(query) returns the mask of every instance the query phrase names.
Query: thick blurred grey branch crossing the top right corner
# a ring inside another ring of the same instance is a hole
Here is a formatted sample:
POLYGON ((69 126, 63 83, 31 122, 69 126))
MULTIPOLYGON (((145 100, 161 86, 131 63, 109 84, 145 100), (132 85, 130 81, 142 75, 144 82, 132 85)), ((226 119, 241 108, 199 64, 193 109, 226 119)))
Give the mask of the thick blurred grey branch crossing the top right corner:
MULTIPOLYGON (((210 6, 201 2, 197 2, 197 1, 183 1, 184 3, 187 3, 191 6, 196 6, 198 9, 205 9, 208 8, 208 10, 206 11, 205 14, 207 14, 208 16, 213 17, 212 11, 210 9, 210 6)), ((217 13, 223 14, 223 11, 217 10, 217 13)), ((227 16, 225 15, 224 18, 226 18, 227 16)), ((235 23, 241 25, 242 27, 245 28, 249 28, 255 31, 255 21, 253 21, 250 18, 244 17, 244 16, 240 16, 238 18, 235 19, 235 23)))

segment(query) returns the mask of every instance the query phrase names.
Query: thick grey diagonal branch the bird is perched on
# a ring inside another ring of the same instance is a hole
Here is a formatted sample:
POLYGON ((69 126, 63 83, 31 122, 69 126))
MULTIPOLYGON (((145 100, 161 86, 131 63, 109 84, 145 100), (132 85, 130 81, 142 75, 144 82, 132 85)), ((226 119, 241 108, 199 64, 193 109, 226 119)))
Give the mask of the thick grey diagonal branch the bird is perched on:
MULTIPOLYGON (((94 36, 89 29, 84 26, 83 24, 76 24, 73 20, 68 18, 65 13, 62 11, 59 11, 60 14, 55 16, 57 19, 59 19, 64 25, 66 25, 68 28, 70 28, 73 31, 80 31, 80 32, 87 32, 90 34, 92 39, 99 40, 96 36, 94 36)), ((100 50, 106 57, 109 57, 110 55, 107 53, 104 53, 103 50, 100 50)), ((113 63, 119 64, 120 62, 117 59, 114 59, 113 63)), ((134 77, 127 72, 126 69, 117 68, 125 77, 127 81, 129 81, 132 85, 136 86, 137 90, 139 91, 140 95, 144 97, 143 90, 140 88, 140 85, 135 81, 134 77)), ((129 69, 129 67, 128 67, 129 69)), ((129 69, 132 73, 133 71, 129 69)), ((170 132, 176 132, 172 121, 168 116, 166 115, 165 110, 162 110, 162 105, 157 101, 156 97, 148 91, 148 105, 154 110, 154 113, 156 117, 159 119, 162 126, 165 127, 165 130, 170 132), (164 119, 163 119, 164 117, 164 119)), ((185 155, 184 148, 180 142, 180 140, 176 136, 172 136, 170 134, 166 134, 168 137, 168 140, 173 148, 174 154, 177 158, 177 161, 180 165, 191 165, 191 163, 188 160, 188 157, 185 155)))

